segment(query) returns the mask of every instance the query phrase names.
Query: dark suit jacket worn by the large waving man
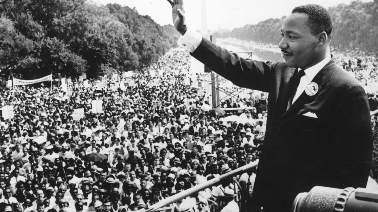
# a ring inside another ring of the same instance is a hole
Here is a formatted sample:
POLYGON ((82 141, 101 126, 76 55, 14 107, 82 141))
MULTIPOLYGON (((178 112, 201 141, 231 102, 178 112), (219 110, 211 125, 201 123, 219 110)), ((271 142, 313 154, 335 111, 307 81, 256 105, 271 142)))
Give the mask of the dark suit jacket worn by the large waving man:
POLYGON ((290 211, 313 186, 366 188, 373 136, 364 89, 334 59, 286 111, 294 68, 243 59, 203 39, 191 53, 235 85, 269 92, 268 119, 253 198, 264 211, 290 211), (318 118, 303 116, 315 113, 318 118))

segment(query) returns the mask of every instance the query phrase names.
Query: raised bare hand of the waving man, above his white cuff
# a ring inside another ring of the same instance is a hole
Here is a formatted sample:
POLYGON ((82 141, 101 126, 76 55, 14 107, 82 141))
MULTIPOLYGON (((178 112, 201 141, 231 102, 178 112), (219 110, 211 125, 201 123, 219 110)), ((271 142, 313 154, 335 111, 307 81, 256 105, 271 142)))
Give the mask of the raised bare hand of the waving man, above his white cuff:
POLYGON ((172 6, 172 20, 176 30, 184 35, 187 31, 184 14, 184 0, 167 0, 172 6))

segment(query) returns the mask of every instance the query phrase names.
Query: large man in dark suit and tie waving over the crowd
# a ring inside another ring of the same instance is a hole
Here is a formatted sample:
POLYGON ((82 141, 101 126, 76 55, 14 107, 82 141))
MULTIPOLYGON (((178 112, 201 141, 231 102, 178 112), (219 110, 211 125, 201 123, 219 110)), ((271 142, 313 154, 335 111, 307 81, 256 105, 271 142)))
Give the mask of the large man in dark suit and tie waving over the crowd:
POLYGON ((168 0, 178 41, 240 87, 269 92, 265 141, 253 190, 266 211, 290 211, 313 186, 366 187, 372 157, 364 89, 330 53, 332 21, 319 5, 294 8, 281 29, 283 60, 240 58, 187 29, 183 0, 168 0))

